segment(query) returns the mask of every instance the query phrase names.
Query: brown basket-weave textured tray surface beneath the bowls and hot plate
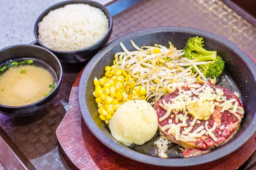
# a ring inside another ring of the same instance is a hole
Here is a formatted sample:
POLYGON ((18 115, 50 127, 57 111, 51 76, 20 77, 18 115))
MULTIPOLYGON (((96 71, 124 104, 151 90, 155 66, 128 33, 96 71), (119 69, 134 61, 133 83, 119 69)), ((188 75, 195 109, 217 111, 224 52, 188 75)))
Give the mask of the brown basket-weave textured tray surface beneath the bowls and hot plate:
MULTIPOLYGON (((256 56, 256 28, 220 0, 143 0, 113 18, 111 40, 144 28, 185 26, 217 34, 256 56)), ((83 66, 63 64, 60 92, 43 113, 26 118, 0 114, 0 126, 17 146, 28 169, 71 168, 58 149, 55 130, 66 113, 70 90, 83 66)))

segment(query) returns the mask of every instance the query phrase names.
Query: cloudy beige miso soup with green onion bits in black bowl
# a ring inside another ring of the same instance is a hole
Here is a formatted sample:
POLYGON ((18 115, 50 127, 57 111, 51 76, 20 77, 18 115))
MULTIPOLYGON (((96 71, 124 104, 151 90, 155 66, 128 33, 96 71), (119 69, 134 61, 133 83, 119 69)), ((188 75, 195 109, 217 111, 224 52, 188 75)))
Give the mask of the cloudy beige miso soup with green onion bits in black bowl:
POLYGON ((0 104, 22 106, 47 96, 57 83, 57 75, 46 62, 21 58, 0 65, 0 104))

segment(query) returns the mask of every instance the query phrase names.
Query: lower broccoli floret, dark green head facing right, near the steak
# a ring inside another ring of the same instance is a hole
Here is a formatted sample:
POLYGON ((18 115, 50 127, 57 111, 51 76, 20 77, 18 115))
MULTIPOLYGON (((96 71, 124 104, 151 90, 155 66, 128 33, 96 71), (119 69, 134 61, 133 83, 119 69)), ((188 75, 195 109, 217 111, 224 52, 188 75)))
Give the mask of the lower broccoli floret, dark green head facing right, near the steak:
MULTIPOLYGON (((217 56, 217 59, 214 62, 197 66, 205 77, 214 79, 214 77, 218 78, 221 76, 222 71, 224 70, 224 63, 225 62, 222 60, 222 58, 217 56)), ((194 72, 195 69, 193 69, 192 71, 194 72)))

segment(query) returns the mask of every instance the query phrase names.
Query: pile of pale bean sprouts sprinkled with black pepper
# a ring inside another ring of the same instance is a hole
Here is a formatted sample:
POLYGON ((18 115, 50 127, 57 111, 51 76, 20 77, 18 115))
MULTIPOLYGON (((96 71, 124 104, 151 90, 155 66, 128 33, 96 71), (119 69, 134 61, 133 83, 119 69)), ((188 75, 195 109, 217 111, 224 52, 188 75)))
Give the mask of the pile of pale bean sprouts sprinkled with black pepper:
POLYGON ((130 74, 136 80, 135 85, 146 88, 147 101, 153 99, 151 105, 162 96, 182 86, 197 81, 208 83, 196 65, 204 65, 212 61, 196 62, 195 59, 184 58, 184 51, 177 50, 171 42, 169 42, 169 48, 157 44, 139 48, 132 40, 130 41, 136 51, 128 51, 121 42, 120 46, 124 52, 116 53, 113 63, 117 66, 116 69, 121 68, 130 74), (198 73, 192 72, 193 67, 198 73), (200 77, 197 79, 198 74, 203 80, 200 77))

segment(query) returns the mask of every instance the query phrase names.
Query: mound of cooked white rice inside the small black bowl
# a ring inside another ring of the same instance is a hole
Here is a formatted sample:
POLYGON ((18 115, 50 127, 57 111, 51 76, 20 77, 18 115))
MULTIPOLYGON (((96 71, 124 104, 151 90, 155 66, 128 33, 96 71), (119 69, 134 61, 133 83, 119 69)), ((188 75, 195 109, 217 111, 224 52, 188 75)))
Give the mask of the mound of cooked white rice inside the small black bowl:
POLYGON ((102 39, 108 26, 108 18, 101 9, 71 4, 50 11, 38 23, 38 38, 51 49, 75 51, 102 39))

